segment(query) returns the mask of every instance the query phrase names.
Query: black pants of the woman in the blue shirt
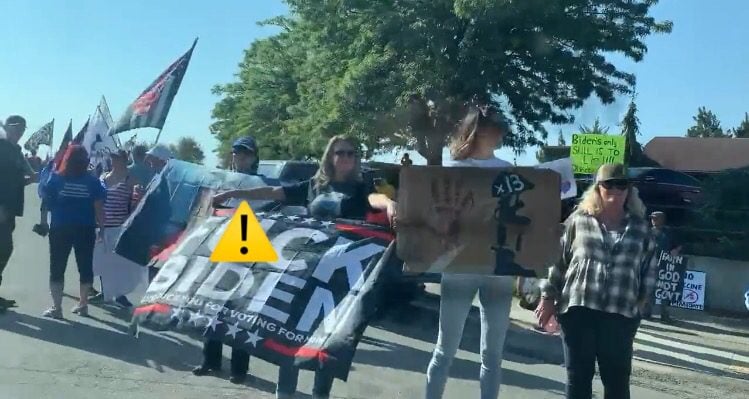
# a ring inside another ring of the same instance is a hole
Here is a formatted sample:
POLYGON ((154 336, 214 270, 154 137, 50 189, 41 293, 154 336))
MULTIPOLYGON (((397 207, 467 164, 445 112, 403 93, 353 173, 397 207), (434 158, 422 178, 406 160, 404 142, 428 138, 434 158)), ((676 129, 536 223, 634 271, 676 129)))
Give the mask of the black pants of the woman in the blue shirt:
POLYGON ((54 227, 49 231, 49 281, 65 281, 70 251, 75 251, 81 284, 94 282, 94 245, 96 228, 93 226, 54 227))

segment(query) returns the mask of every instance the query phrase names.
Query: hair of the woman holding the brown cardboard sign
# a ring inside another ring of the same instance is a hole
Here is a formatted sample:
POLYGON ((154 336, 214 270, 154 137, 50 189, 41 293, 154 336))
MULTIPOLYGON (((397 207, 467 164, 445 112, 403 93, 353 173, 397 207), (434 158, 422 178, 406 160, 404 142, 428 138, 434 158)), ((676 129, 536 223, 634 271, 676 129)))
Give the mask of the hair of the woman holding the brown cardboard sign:
POLYGON ((459 161, 470 158, 476 150, 478 133, 487 128, 499 129, 503 138, 510 132, 509 125, 502 120, 494 108, 472 106, 450 141, 450 156, 452 159, 459 161))

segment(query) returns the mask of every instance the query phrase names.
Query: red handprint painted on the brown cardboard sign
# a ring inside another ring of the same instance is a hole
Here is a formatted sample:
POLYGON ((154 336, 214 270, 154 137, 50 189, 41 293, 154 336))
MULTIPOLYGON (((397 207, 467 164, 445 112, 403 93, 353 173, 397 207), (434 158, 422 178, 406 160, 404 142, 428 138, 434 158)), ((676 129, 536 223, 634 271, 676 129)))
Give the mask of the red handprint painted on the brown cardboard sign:
POLYGON ((465 190, 461 181, 447 177, 432 180, 432 208, 427 224, 445 247, 457 245, 460 217, 473 205, 473 193, 465 190))

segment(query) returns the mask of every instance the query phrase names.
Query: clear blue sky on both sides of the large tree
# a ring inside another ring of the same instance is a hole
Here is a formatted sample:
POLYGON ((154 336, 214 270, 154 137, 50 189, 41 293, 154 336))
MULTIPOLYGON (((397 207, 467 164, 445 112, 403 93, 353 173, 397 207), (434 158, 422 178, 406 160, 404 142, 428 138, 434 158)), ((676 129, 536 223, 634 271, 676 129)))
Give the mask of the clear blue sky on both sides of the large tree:
MULTIPOLYGON (((161 140, 195 137, 213 165, 215 139, 208 126, 218 98, 211 88, 232 81, 243 50, 273 33, 256 22, 284 12, 278 0, 3 0, 0 117, 24 115, 30 130, 55 118, 56 142, 70 118, 74 130, 86 121, 101 95, 118 119, 200 37, 161 140)), ((742 44, 749 38, 749 2, 661 0, 653 14, 672 20, 673 33, 649 38, 648 54, 639 64, 617 58, 621 68, 637 75, 641 142, 683 135, 703 105, 724 128, 736 126, 749 112, 749 47, 742 44)), ((616 131, 627 101, 607 107, 589 101, 576 113, 575 126, 563 131, 569 138, 577 125, 596 117, 616 131)), ((559 127, 550 129, 553 142, 559 127)), ((155 129, 146 129, 138 138, 155 136, 155 129)), ((535 163, 534 152, 529 149, 518 163, 535 163)), ((500 156, 513 159, 505 150, 500 156)))

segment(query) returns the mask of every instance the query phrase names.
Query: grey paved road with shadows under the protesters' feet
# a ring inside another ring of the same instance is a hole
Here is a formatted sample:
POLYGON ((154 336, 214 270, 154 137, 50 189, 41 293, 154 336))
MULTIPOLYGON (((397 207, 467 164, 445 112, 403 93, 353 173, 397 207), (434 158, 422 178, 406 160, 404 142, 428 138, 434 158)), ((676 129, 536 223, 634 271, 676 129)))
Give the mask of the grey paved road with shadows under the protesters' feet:
MULTIPOLYGON (((16 252, 0 294, 19 307, 0 315, 0 399, 25 398, 272 398, 277 368, 253 359, 257 378, 235 386, 225 378, 194 377, 200 344, 184 336, 142 332, 128 334, 129 315, 115 307, 92 309, 80 318, 68 310, 77 295, 77 272, 71 261, 66 275, 66 321, 40 317, 49 304, 47 242, 31 233, 38 202, 29 190, 27 214, 19 219, 16 252)), ((71 259, 72 260, 72 259, 71 259)), ((135 299, 135 298, 133 298, 135 299)), ((414 310, 408 323, 385 320, 370 327, 359 346, 348 382, 336 382, 336 398, 420 398, 424 371, 436 337, 436 317, 414 310)), ((478 326, 469 325, 464 346, 453 364, 446 398, 478 397, 478 326)), ((227 351, 228 352, 228 351, 227 351)), ((228 361, 226 364, 228 368, 228 361)), ((564 370, 558 365, 508 354, 503 397, 560 398, 564 370)), ((309 398, 311 374, 303 373, 300 398, 309 398)), ((668 383, 658 389, 667 389, 668 383)), ((600 384, 597 384, 600 395, 600 384)), ((601 396, 599 396, 601 397, 601 396)), ((634 398, 682 398, 637 386, 634 398)), ((710 397, 710 396, 703 396, 710 397)))

